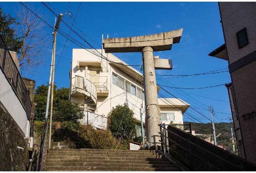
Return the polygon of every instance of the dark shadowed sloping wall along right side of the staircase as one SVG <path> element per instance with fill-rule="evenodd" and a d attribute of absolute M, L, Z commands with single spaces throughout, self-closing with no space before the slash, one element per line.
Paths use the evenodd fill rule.
<path fill-rule="evenodd" d="M 192 134 L 174 126 L 167 127 L 170 155 L 178 158 L 184 165 L 194 171 L 245 171 L 256 170 L 256 165 L 238 157 L 231 152 L 221 149 Z M 190 143 L 188 142 L 190 141 Z M 188 151 L 191 151 L 190 154 Z M 193 166 L 190 162 L 197 165 Z M 230 163 L 226 162 L 229 161 Z M 238 167 L 237 167 L 238 166 Z"/>

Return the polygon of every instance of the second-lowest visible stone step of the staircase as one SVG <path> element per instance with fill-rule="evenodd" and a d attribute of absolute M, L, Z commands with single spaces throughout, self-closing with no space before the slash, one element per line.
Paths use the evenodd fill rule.
<path fill-rule="evenodd" d="M 139 164 L 138 164 L 139 163 Z M 66 162 L 66 163 L 47 163 L 47 167 L 48 166 L 78 166 L 78 167 L 83 167 L 83 166 L 126 166 L 126 167 L 176 167 L 175 165 L 171 165 L 171 164 L 166 164 L 166 165 L 159 165 L 159 164 L 141 164 L 140 162 L 137 162 L 137 164 L 129 164 L 129 163 L 105 163 L 105 162 Z"/>

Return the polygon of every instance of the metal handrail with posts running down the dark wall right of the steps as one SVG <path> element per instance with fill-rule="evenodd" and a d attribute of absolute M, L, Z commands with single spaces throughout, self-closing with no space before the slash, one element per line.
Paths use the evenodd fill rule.
<path fill-rule="evenodd" d="M 171 125 L 172 125 L 172 124 L 171 124 Z M 180 135 L 178 135 L 178 134 L 176 134 L 176 133 L 174 133 L 174 132 L 168 130 L 168 129 L 165 127 L 165 123 L 163 123 L 163 124 L 158 124 L 158 126 L 160 126 L 161 145 L 164 146 L 164 147 L 162 147 L 162 151 L 164 151 L 164 148 L 168 147 L 169 149 L 171 149 L 172 151 L 174 151 L 176 154 L 180 155 L 180 156 L 183 157 L 185 160 L 187 160 L 189 163 L 191 163 L 193 166 L 196 166 L 196 167 L 198 167 L 198 168 L 201 169 L 201 170 L 203 170 L 203 169 L 202 169 L 201 167 L 199 167 L 198 165 L 196 165 L 196 164 L 193 162 L 193 156 L 195 156 L 195 157 L 201 159 L 202 161 L 206 162 L 208 165 L 211 165 L 211 166 L 213 166 L 214 168 L 216 168 L 216 169 L 222 171 L 222 170 L 219 169 L 218 167 L 216 167 L 216 166 L 212 165 L 211 163 L 207 162 L 204 158 L 201 158 L 199 155 L 194 154 L 194 153 L 191 151 L 191 145 L 193 145 L 193 146 L 196 146 L 196 147 L 198 147 L 198 148 L 200 148 L 200 149 L 202 149 L 202 150 L 208 152 L 209 154 L 211 154 L 211 155 L 213 155 L 213 156 L 215 156 L 215 157 L 217 157 L 217 158 L 223 160 L 224 162 L 226 162 L 226 163 L 228 163 L 228 164 L 230 164 L 230 165 L 232 165 L 232 166 L 234 166 L 234 167 L 237 167 L 239 170 L 245 171 L 245 170 L 244 170 L 243 168 L 241 168 L 240 166 L 235 165 L 235 164 L 233 164 L 233 163 L 231 163 L 231 162 L 225 160 L 224 158 L 220 157 L 219 155 L 214 154 L 213 152 L 208 151 L 207 149 L 202 148 L 201 146 L 199 146 L 199 145 L 197 145 L 197 144 L 191 142 L 190 140 L 187 140 L 187 139 L 185 139 L 184 137 L 182 137 L 182 136 L 180 136 Z M 163 130 L 162 130 L 162 129 L 163 129 Z M 179 138 L 181 138 L 182 140 L 188 142 L 188 144 L 189 144 L 189 149 L 186 149 L 186 148 L 182 147 L 182 146 L 179 145 L 177 142 L 175 142 L 175 141 L 172 140 L 171 138 L 167 137 L 167 135 L 166 135 L 166 133 L 165 133 L 166 130 L 167 130 L 167 132 L 172 133 L 172 134 L 178 136 Z M 163 140 L 163 138 L 170 140 L 171 142 L 175 143 L 177 146 L 179 146 L 179 147 L 181 147 L 182 149 L 184 149 L 184 151 L 187 151 L 187 152 L 189 153 L 189 155 L 190 155 L 190 160 L 187 159 L 187 158 L 185 158 L 184 156 L 182 156 L 179 152 L 177 152 L 177 151 L 175 151 L 174 149 L 172 149 L 169 145 L 167 145 L 167 144 L 166 144 L 166 140 Z M 165 152 L 164 154 L 166 154 L 166 152 Z M 192 171 L 193 171 L 193 166 L 192 166 Z M 204 170 L 203 170 L 203 171 L 204 171 Z"/>

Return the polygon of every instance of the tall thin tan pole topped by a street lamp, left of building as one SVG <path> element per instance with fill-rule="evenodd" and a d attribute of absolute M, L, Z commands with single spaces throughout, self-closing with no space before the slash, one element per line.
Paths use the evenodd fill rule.
<path fill-rule="evenodd" d="M 51 136 L 52 136 L 52 118 L 53 118 L 53 89 L 54 89 L 54 68 L 55 68 L 55 48 L 56 48 L 56 35 L 57 35 L 57 29 L 59 28 L 59 24 L 61 21 L 63 14 L 59 13 L 59 17 L 57 20 L 56 25 L 54 26 L 54 33 L 53 33 L 53 72 L 52 72 L 52 86 L 51 86 L 51 111 L 50 111 L 50 127 L 49 127 L 49 145 L 48 148 L 51 148 Z"/>

